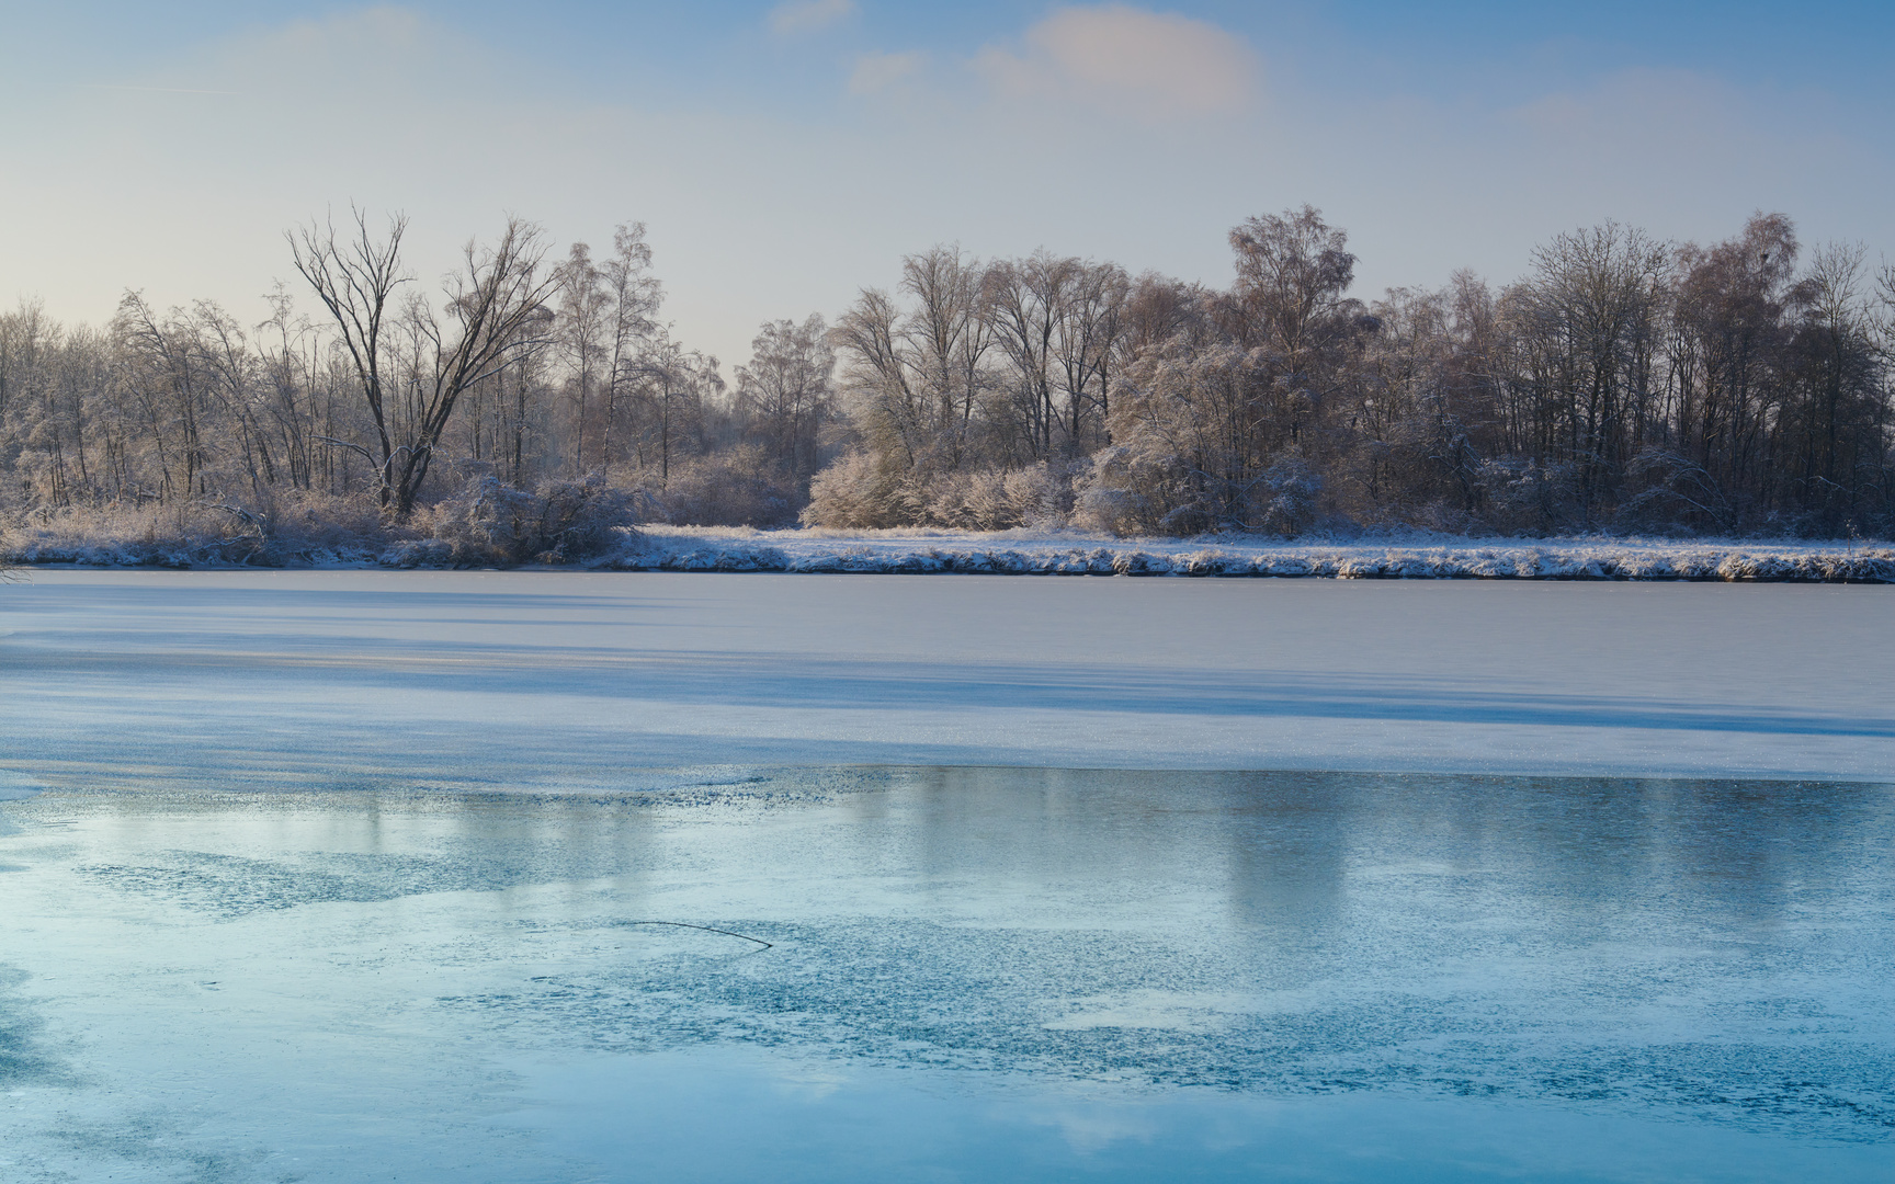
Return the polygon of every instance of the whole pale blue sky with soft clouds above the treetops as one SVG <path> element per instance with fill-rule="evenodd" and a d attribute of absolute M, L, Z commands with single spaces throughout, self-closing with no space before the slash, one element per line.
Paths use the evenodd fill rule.
<path fill-rule="evenodd" d="M 424 277 L 508 210 L 644 220 L 728 362 L 932 242 L 1224 282 L 1226 229 L 1304 201 L 1364 297 L 1605 218 L 1895 250 L 1887 4 L 15 8 L 0 299 L 72 320 L 250 311 L 282 227 L 349 201 L 404 208 Z"/>

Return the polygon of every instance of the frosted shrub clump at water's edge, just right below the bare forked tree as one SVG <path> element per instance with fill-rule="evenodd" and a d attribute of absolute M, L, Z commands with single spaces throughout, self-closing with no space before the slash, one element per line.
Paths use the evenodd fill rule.
<path fill-rule="evenodd" d="M 584 481 L 546 481 L 514 489 L 493 475 L 470 479 L 457 494 L 417 515 L 424 538 L 443 544 L 423 563 L 515 566 L 572 563 L 605 553 L 631 527 L 635 498 L 593 474 Z"/>

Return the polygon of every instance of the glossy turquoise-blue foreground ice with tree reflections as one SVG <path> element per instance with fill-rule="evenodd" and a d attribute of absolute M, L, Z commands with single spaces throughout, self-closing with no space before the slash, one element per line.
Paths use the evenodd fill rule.
<path fill-rule="evenodd" d="M 641 784 L 0 805 L 0 1178 L 1895 1161 L 1889 786 Z"/>

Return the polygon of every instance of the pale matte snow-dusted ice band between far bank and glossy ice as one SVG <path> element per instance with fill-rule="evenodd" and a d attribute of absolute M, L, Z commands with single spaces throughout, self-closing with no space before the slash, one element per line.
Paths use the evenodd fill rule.
<path fill-rule="evenodd" d="M 40 570 L 0 631 L 49 784 L 1895 771 L 1886 585 Z"/>

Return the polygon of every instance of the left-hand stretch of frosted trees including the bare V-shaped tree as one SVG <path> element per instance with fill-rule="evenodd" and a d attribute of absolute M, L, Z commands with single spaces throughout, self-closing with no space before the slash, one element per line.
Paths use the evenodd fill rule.
<path fill-rule="evenodd" d="M 279 284 L 256 326 L 136 292 L 102 330 L 30 303 L 0 314 L 0 511 L 271 521 L 366 500 L 406 521 L 470 479 L 589 477 L 648 517 L 796 521 L 830 430 L 821 318 L 764 326 L 730 388 L 659 318 L 641 224 L 605 258 L 584 242 L 550 258 L 538 227 L 510 222 L 432 299 L 404 271 L 404 233 L 360 214 L 299 227 L 303 282 Z"/>

